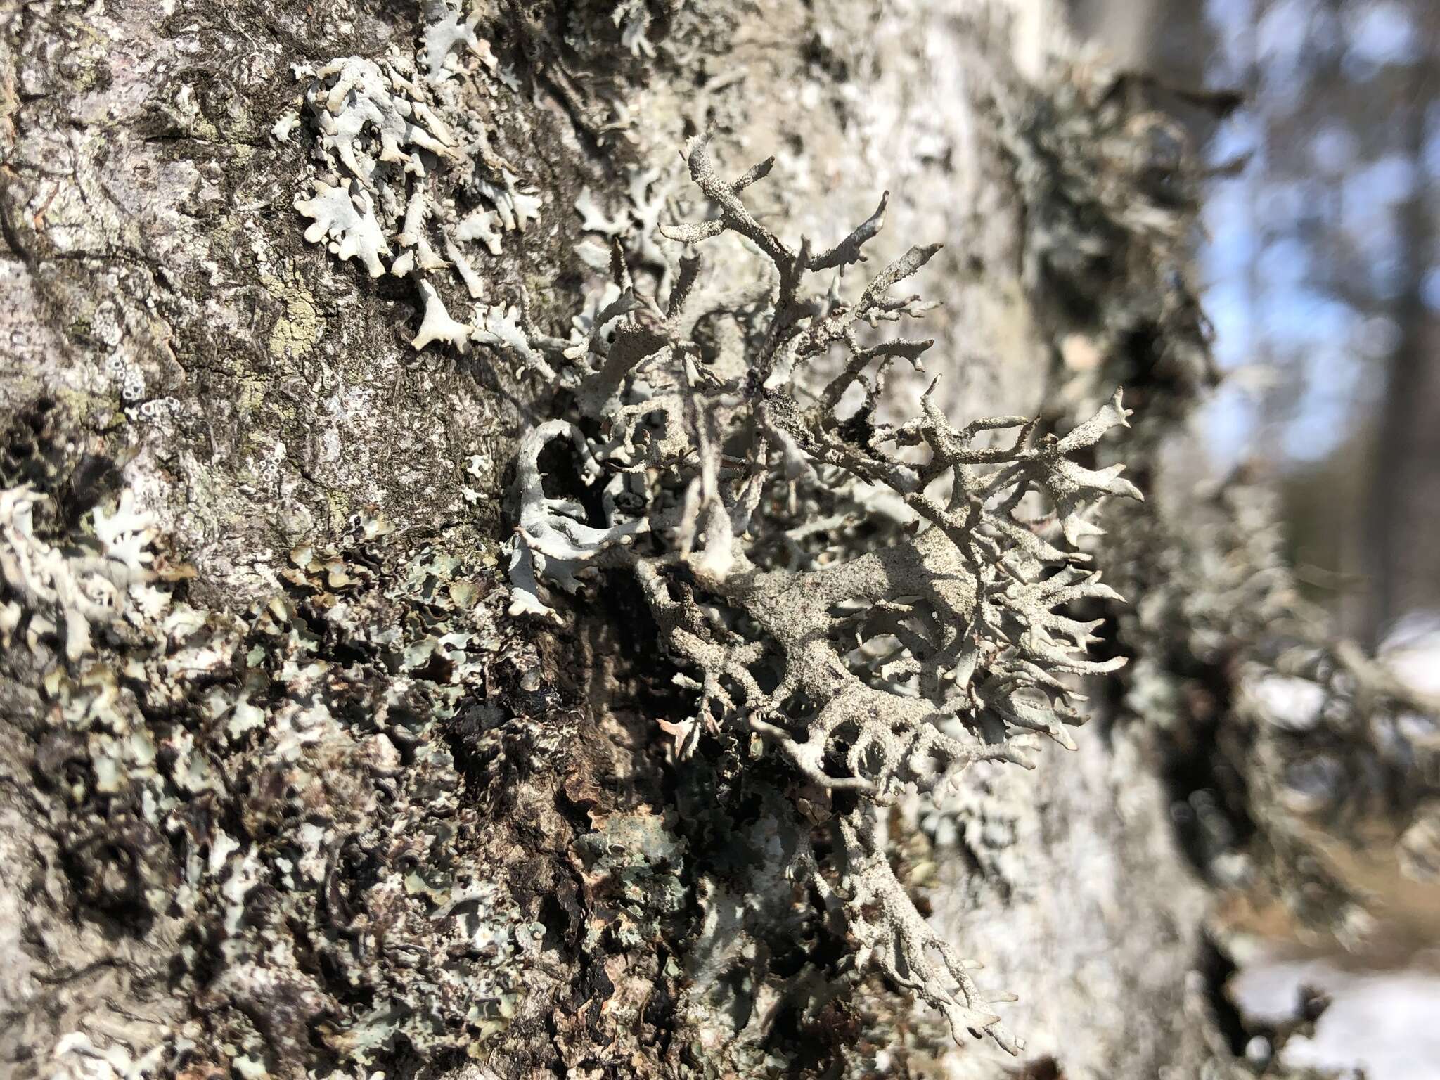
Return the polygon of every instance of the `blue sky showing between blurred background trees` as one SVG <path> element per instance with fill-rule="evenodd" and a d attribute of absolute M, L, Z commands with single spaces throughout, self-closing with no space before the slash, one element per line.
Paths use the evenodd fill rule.
<path fill-rule="evenodd" d="M 1303 105 L 1305 63 L 1326 42 L 1344 42 L 1342 72 L 1361 91 L 1385 65 L 1413 62 L 1423 46 L 1407 4 L 1352 0 L 1341 17 L 1318 0 L 1277 0 L 1256 22 L 1256 0 L 1208 0 L 1220 40 L 1212 85 L 1244 86 L 1260 71 L 1256 108 L 1225 121 L 1212 141 L 1215 164 L 1250 156 L 1244 173 L 1218 180 L 1207 196 L 1201 275 L 1207 311 L 1217 331 L 1217 359 L 1230 377 L 1201 418 L 1218 471 L 1253 455 L 1280 464 L 1331 454 L 1378 402 L 1394 323 L 1365 317 L 1318 284 L 1323 266 L 1302 240 L 1313 235 L 1318 184 L 1339 200 L 1339 220 L 1361 255 L 1362 282 L 1378 297 L 1397 287 L 1395 207 L 1413 192 L 1410 161 L 1361 157 L 1359 140 L 1341 124 L 1309 137 L 1309 170 L 1299 181 L 1266 173 L 1260 115 Z M 1440 109 L 1428 118 L 1424 168 L 1440 173 Z M 1315 181 L 1315 183 L 1308 183 Z M 1309 228 L 1308 228 L 1308 223 Z M 1325 220 L 1326 228 L 1331 222 Z M 1261 236 L 1261 230 L 1269 238 Z M 1428 302 L 1440 308 L 1440 268 L 1427 276 Z M 1287 402 L 1276 431 L 1263 428 L 1260 395 L 1279 390 Z"/>

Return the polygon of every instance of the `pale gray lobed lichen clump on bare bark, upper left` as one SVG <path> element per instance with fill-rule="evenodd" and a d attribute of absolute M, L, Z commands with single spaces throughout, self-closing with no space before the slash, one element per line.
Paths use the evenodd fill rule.
<path fill-rule="evenodd" d="M 482 307 L 465 318 L 451 314 L 445 271 L 482 304 L 475 259 L 498 255 L 504 235 L 523 232 L 541 210 L 540 196 L 491 145 L 497 60 L 477 23 L 478 14 L 462 17 L 441 3 L 410 55 L 392 49 L 380 60 L 346 56 L 297 71 L 321 166 L 312 194 L 295 200 L 312 220 L 305 239 L 359 259 L 372 278 L 412 278 L 423 304 L 418 350 L 445 343 L 467 351 L 494 334 Z M 276 138 L 285 134 L 276 124 Z M 521 359 L 539 357 L 527 350 Z M 552 377 L 543 361 L 530 366 Z"/>

